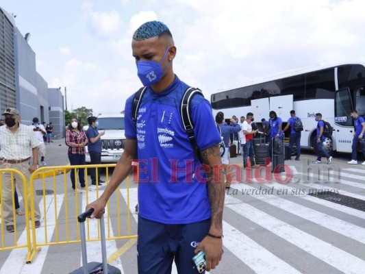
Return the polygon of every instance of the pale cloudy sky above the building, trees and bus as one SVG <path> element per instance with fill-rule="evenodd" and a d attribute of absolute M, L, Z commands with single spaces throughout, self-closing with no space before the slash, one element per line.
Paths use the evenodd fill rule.
<path fill-rule="evenodd" d="M 364 0 L 0 0 L 68 110 L 118 113 L 140 88 L 131 37 L 142 23 L 170 28 L 175 73 L 214 92 L 319 62 L 365 56 Z"/>

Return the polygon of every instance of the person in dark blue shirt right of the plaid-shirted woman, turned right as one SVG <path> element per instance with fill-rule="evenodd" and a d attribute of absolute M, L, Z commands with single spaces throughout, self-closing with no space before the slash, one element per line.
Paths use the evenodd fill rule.
<path fill-rule="evenodd" d="M 100 132 L 97 129 L 99 125 L 97 121 L 97 117 L 90 116 L 88 117 L 88 131 L 86 132 L 86 136 L 88 137 L 88 153 L 90 154 L 90 164 L 101 164 L 101 136 L 105 134 L 105 132 Z M 99 170 L 96 172 L 96 169 L 89 169 L 91 184 L 96 186 L 101 186 L 101 184 L 105 183 L 105 181 L 100 179 Z M 97 178 L 96 178 L 97 173 Z"/>

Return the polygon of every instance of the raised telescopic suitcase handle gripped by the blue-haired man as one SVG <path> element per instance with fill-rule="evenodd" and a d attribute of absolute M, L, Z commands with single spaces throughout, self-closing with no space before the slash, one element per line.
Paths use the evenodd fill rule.
<path fill-rule="evenodd" d="M 82 255 L 82 271 L 88 274 L 88 253 L 86 251 L 86 231 L 85 221 L 88 216 L 94 212 L 94 208 L 90 208 L 77 216 L 77 221 L 80 224 L 80 238 L 81 238 L 81 255 Z M 103 259 L 103 273 L 108 274 L 108 263 L 106 258 L 106 243 L 105 243 L 105 225 L 104 214 L 100 218 L 100 238 L 101 238 L 101 258 Z"/>

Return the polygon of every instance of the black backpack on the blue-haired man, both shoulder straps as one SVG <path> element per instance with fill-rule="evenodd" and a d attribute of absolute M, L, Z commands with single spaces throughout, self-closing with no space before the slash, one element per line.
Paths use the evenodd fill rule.
<path fill-rule="evenodd" d="M 147 90 L 147 86 L 140 88 L 136 92 L 136 95 L 134 95 L 134 99 L 132 101 L 131 116 L 132 116 L 135 126 L 137 125 L 137 116 L 138 116 L 138 110 L 140 108 L 140 103 L 142 101 L 143 95 L 146 92 L 146 90 Z M 201 90 L 199 90 L 199 88 L 188 87 L 185 90 L 184 95 L 181 98 L 180 115 L 181 115 L 181 122 L 184 126 L 184 129 L 186 130 L 186 133 L 188 134 L 188 138 L 194 149 L 194 155 L 197 158 L 199 158 L 199 160 L 201 160 L 199 148 L 197 147 L 197 142 L 195 142 L 195 137 L 194 137 L 194 124 L 192 123 L 192 119 L 190 116 L 190 112 L 191 112 L 190 102 L 192 100 L 192 97 L 194 97 L 195 95 L 198 95 L 198 94 L 204 97 L 203 93 L 201 92 Z"/>

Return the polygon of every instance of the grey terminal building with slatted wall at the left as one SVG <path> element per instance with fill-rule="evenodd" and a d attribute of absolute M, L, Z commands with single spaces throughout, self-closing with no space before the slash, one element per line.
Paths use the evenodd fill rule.
<path fill-rule="evenodd" d="M 64 97 L 36 71 L 36 53 L 28 39 L 29 34 L 23 36 L 14 18 L 0 7 L 0 111 L 17 108 L 25 125 L 34 117 L 52 122 L 53 136 L 64 138 Z"/>

